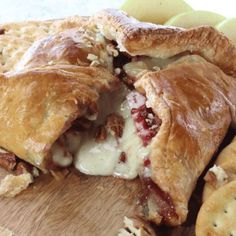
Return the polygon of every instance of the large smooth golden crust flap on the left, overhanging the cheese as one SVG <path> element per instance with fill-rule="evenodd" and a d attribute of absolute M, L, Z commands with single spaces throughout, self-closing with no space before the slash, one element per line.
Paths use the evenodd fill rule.
<path fill-rule="evenodd" d="M 45 168 L 52 144 L 75 119 L 94 111 L 100 92 L 116 86 L 115 77 L 95 67 L 65 65 L 1 75 L 0 146 Z"/>

